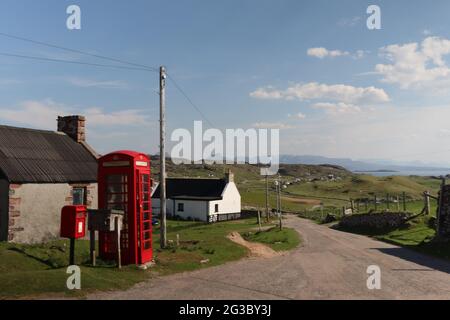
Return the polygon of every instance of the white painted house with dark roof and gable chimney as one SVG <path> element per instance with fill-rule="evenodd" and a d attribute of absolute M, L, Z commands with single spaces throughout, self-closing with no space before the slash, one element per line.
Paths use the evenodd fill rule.
<path fill-rule="evenodd" d="M 167 215 L 205 222 L 238 219 L 241 195 L 230 171 L 224 179 L 168 178 Z M 159 186 L 152 196 L 153 215 L 160 214 Z"/>

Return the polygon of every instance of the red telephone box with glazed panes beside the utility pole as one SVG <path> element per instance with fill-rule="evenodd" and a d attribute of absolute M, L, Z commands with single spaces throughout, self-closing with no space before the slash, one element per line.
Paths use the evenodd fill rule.
<path fill-rule="evenodd" d="M 123 264 L 145 264 L 153 257 L 150 158 L 134 151 L 117 151 L 99 159 L 99 209 L 125 213 L 120 239 Z M 99 254 L 116 257 L 114 232 L 99 233 Z"/>

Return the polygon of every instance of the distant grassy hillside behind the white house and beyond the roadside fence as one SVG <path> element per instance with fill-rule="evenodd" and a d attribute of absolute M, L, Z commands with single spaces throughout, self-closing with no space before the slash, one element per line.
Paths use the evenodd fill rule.
<path fill-rule="evenodd" d="M 244 206 L 265 207 L 265 177 L 255 165 L 174 165 L 167 161 L 169 177 L 222 178 L 231 169 L 242 195 Z M 159 161 L 152 162 L 153 178 L 159 179 Z M 300 211 L 323 203 L 342 207 L 350 199 L 384 199 L 387 194 L 395 199 L 403 192 L 409 201 L 421 200 L 423 192 L 436 194 L 440 181 L 426 177 L 374 177 L 356 175 L 333 165 L 280 165 L 283 182 L 283 206 Z M 275 207 L 275 184 L 277 177 L 269 177 L 270 206 Z"/>

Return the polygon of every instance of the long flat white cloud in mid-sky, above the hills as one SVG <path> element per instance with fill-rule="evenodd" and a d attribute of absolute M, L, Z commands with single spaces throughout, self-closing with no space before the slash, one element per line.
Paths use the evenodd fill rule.
<path fill-rule="evenodd" d="M 389 101 L 388 94 L 375 87 L 353 87 L 344 84 L 327 85 L 317 82 L 295 84 L 285 90 L 259 88 L 250 93 L 256 99 L 325 100 L 348 104 L 377 104 Z"/>

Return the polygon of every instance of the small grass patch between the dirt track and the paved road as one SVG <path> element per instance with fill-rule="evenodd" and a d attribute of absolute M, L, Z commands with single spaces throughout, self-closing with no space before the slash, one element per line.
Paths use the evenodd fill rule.
<path fill-rule="evenodd" d="M 261 242 L 275 251 L 287 251 L 298 247 L 300 237 L 294 229 L 273 227 L 261 232 L 245 232 L 242 234 L 245 240 Z"/>

